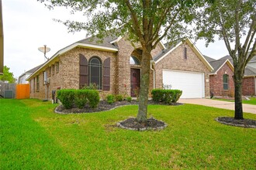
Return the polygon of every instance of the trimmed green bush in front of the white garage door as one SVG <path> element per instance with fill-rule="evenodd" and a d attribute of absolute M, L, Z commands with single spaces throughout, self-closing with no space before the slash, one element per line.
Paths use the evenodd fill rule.
<path fill-rule="evenodd" d="M 156 102 L 164 102 L 165 104 L 176 103 L 182 96 L 182 90 L 162 90 L 154 89 L 151 92 L 152 99 Z"/>

